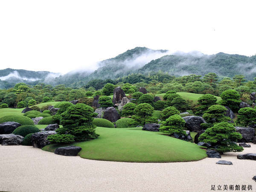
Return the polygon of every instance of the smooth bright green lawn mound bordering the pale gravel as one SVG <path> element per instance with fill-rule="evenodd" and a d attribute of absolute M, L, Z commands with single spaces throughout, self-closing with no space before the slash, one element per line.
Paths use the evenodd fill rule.
<path fill-rule="evenodd" d="M 141 128 L 96 128 L 100 136 L 95 140 L 74 143 L 80 146 L 80 157 L 92 160 L 122 162 L 185 162 L 207 157 L 198 145 L 159 132 L 142 131 Z M 47 145 L 45 151 L 53 152 L 61 145 Z M 63 145 L 62 145 L 63 146 Z"/>

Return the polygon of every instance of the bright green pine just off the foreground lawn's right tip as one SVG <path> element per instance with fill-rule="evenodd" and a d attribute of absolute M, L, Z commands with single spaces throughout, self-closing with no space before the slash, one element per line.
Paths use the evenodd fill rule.
<path fill-rule="evenodd" d="M 220 122 L 212 128 L 208 128 L 198 138 L 199 141 L 210 143 L 217 151 L 224 152 L 240 152 L 243 147 L 238 146 L 235 142 L 240 140 L 242 135 L 236 132 L 234 126 L 228 122 Z"/>

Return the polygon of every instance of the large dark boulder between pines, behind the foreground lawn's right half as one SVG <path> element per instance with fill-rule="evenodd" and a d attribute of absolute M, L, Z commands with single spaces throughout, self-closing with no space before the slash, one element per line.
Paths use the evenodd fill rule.
<path fill-rule="evenodd" d="M 189 131 L 198 132 L 203 128 L 201 127 L 201 123 L 206 123 L 206 121 L 201 116 L 184 116 L 182 117 L 186 121 L 185 127 Z"/>

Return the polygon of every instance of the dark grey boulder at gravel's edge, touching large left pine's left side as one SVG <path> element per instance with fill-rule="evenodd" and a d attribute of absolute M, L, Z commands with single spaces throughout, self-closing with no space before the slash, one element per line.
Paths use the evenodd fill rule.
<path fill-rule="evenodd" d="M 55 131 L 41 131 L 38 133 L 34 133 L 31 136 L 31 143 L 33 147 L 43 148 L 44 146 L 51 144 L 51 142 L 47 140 L 48 135 L 54 134 L 56 134 Z"/>

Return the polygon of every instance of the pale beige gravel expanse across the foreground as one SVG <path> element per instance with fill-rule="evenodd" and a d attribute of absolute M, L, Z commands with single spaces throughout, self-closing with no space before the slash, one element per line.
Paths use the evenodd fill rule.
<path fill-rule="evenodd" d="M 252 185 L 256 161 L 237 154 L 256 153 L 256 145 L 221 159 L 185 163 L 122 163 L 56 155 L 30 146 L 0 145 L 0 191 L 190 191 L 211 186 Z M 215 164 L 229 160 L 232 166 Z M 234 189 L 235 191 L 235 189 Z"/>

